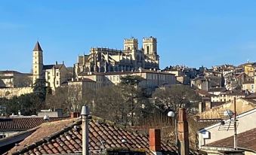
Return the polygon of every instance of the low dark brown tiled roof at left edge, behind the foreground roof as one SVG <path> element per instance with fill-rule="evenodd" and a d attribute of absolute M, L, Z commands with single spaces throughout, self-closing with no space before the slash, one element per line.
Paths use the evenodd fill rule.
<path fill-rule="evenodd" d="M 50 122 L 63 120 L 62 118 L 50 118 Z M 43 117 L 0 117 L 0 131 L 23 131 L 40 126 L 47 121 Z"/>

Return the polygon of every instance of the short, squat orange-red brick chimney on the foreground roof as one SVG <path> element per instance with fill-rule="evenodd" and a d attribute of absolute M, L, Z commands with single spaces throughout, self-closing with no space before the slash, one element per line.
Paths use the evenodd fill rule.
<path fill-rule="evenodd" d="M 161 151 L 160 129 L 150 129 L 150 150 L 155 153 Z"/>

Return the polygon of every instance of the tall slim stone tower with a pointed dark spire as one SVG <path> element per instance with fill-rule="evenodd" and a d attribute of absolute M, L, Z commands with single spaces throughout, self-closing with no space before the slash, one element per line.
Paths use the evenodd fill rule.
<path fill-rule="evenodd" d="M 43 54 L 42 48 L 39 44 L 39 41 L 36 42 L 34 50 L 33 50 L 33 57 L 32 57 L 32 71 L 33 71 L 33 84 L 35 84 L 36 79 L 43 78 Z"/>

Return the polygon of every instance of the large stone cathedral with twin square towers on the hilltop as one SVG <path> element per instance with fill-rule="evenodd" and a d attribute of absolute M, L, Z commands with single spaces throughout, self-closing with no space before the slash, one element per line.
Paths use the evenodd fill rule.
<path fill-rule="evenodd" d="M 124 49 L 93 47 L 88 55 L 79 56 L 74 65 L 76 76 L 82 72 L 137 71 L 159 69 L 156 38 L 143 38 L 142 48 L 138 48 L 136 38 L 124 40 Z"/>

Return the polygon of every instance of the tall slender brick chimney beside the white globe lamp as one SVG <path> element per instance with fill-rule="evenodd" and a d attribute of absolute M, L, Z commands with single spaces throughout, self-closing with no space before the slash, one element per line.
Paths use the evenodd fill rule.
<path fill-rule="evenodd" d="M 189 128 L 187 123 L 187 114 L 185 108 L 179 109 L 179 116 L 177 122 L 178 129 L 178 148 L 180 155 L 189 155 Z"/>

